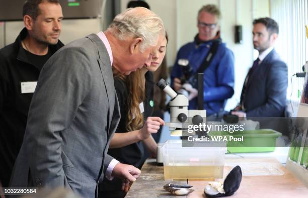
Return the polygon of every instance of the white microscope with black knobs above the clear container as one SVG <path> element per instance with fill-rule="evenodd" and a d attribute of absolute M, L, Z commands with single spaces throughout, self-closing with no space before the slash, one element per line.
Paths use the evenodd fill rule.
<path fill-rule="evenodd" d="M 188 110 L 188 98 L 175 92 L 168 83 L 161 79 L 157 85 L 170 97 L 170 123 L 166 123 L 171 136 L 190 136 L 188 125 L 206 124 L 206 110 L 203 108 L 203 73 L 198 73 L 198 110 Z"/>

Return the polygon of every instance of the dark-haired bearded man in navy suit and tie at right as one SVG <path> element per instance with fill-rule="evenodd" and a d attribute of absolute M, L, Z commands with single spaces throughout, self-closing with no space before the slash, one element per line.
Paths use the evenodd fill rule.
<path fill-rule="evenodd" d="M 288 71 L 274 49 L 278 24 L 271 18 L 260 18 L 254 20 L 253 25 L 253 43 L 259 57 L 246 76 L 241 103 L 232 114 L 239 117 L 282 117 Z"/>

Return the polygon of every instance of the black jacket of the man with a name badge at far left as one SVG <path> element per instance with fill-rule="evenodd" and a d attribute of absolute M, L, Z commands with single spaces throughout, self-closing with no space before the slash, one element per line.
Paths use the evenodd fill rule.
<path fill-rule="evenodd" d="M 21 41 L 27 36 L 24 28 L 16 41 L 0 49 L 0 180 L 7 187 L 12 169 L 23 142 L 28 110 L 33 93 L 22 93 L 22 82 L 38 80 L 43 65 L 28 59 Z M 54 54 L 63 44 L 50 45 Z"/>

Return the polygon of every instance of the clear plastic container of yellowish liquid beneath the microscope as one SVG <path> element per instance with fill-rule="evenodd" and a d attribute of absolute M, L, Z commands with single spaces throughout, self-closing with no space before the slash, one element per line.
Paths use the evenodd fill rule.
<path fill-rule="evenodd" d="M 182 147 L 182 140 L 168 140 L 163 146 L 165 179 L 222 178 L 225 143 L 200 144 Z"/>

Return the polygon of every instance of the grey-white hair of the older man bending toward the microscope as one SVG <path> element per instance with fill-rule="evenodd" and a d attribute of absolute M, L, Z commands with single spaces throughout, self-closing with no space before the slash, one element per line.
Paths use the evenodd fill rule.
<path fill-rule="evenodd" d="M 130 8 L 117 15 L 108 30 L 119 40 L 129 37 L 142 38 L 140 51 L 157 45 L 160 35 L 165 37 L 165 27 L 162 19 L 146 8 Z"/>

